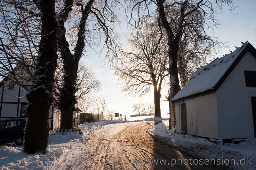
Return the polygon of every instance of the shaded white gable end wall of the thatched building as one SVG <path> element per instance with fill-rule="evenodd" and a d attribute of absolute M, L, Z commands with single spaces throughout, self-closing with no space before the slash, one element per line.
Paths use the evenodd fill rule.
<path fill-rule="evenodd" d="M 246 87 L 244 70 L 256 71 L 256 57 L 247 52 L 217 90 L 219 137 L 254 137 L 251 96 L 256 88 Z"/>

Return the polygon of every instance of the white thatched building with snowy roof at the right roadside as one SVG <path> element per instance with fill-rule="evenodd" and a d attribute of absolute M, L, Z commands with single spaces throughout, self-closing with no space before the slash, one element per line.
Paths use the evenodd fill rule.
<path fill-rule="evenodd" d="M 256 49 L 246 41 L 196 70 L 172 102 L 177 133 L 226 140 L 256 137 Z"/>

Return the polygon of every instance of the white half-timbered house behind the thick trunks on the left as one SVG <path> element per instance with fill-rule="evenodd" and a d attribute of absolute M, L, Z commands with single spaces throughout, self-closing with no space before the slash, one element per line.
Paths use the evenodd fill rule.
<path fill-rule="evenodd" d="M 28 117 L 26 112 L 27 91 L 22 87 L 9 85 L 9 81 L 4 78 L 0 83 L 0 120 L 12 118 Z M 49 129 L 56 129 L 60 126 L 60 114 L 56 108 L 50 108 L 49 112 Z"/>

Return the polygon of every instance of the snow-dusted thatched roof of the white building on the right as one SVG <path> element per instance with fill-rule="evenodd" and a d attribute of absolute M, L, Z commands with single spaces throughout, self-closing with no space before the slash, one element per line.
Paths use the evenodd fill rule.
<path fill-rule="evenodd" d="M 172 98 L 172 101 L 192 97 L 201 93 L 213 92 L 218 89 L 248 50 L 255 52 L 256 49 L 246 41 L 234 52 L 217 58 L 196 70 L 190 76 L 188 83 Z"/>

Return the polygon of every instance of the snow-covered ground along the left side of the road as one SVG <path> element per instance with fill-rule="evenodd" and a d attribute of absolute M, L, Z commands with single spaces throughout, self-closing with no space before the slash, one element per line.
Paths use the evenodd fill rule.
<path fill-rule="evenodd" d="M 140 119 L 138 117 L 137 119 Z M 157 121 L 162 118 L 146 118 L 144 120 L 134 120 L 126 122 L 139 121 Z M 123 123 L 122 120 L 102 121 L 81 124 L 82 135 L 76 132 L 50 132 L 48 140 L 48 149 L 45 155 L 25 154 L 22 152 L 22 146 L 4 146 L 0 148 L 0 169 L 2 170 L 26 170 L 26 169 L 62 169 L 72 160 L 76 160 L 81 154 L 82 147 L 86 143 L 90 134 L 102 126 L 115 123 Z"/>

